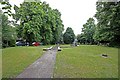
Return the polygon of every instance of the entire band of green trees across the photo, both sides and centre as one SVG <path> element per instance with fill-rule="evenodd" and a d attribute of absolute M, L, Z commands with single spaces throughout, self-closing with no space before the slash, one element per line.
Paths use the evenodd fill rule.
<path fill-rule="evenodd" d="M 0 10 L 2 19 L 0 28 L 3 34 L 2 42 L 6 46 L 10 46 L 9 44 L 13 40 L 15 43 L 17 38 L 22 38 L 31 45 L 32 42 L 54 44 L 63 41 L 69 44 L 75 39 L 74 31 L 70 27 L 63 34 L 64 25 L 61 13 L 57 9 L 52 9 L 46 2 L 34 0 L 34 2 L 23 2 L 20 7 L 14 5 L 14 14 L 11 12 L 12 6 L 8 1 L 2 1 L 1 4 L 3 7 L 2 11 Z M 83 25 L 82 33 L 77 35 L 78 42 L 118 44 L 120 41 L 120 1 L 97 2 L 96 10 L 94 17 L 97 19 L 97 24 L 95 24 L 94 18 L 89 18 Z M 8 16 L 12 16 L 15 22 L 11 23 Z"/>

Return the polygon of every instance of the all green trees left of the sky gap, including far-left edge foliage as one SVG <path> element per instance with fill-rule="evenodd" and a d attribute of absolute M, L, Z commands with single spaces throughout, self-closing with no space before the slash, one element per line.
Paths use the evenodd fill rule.
<path fill-rule="evenodd" d="M 23 2 L 20 7 L 14 5 L 15 13 L 11 12 L 8 1 L 2 1 L 1 4 L 4 5 L 0 14 L 3 47 L 11 46 L 10 43 L 13 41 L 12 46 L 15 46 L 19 38 L 29 42 L 30 45 L 35 41 L 45 45 L 63 41 L 64 25 L 61 13 L 57 9 L 52 9 L 46 2 Z M 9 21 L 8 16 L 12 16 L 15 21 L 13 23 Z"/>

